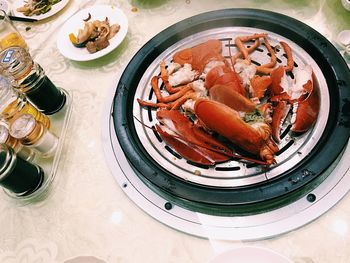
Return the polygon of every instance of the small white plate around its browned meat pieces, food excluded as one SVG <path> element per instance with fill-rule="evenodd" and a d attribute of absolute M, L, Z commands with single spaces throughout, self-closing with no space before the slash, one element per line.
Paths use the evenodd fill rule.
<path fill-rule="evenodd" d="M 119 32 L 109 40 L 109 46 L 105 49 L 90 54 L 86 48 L 77 48 L 69 40 L 69 34 L 78 34 L 79 29 L 84 28 L 84 20 L 91 14 L 91 21 L 104 20 L 108 17 L 110 25 L 118 23 Z M 57 47 L 63 56 L 75 61 L 89 61 L 100 58 L 113 51 L 125 38 L 128 32 L 128 19 L 122 10 L 109 5 L 95 5 L 83 9 L 72 16 L 61 28 L 57 37 Z"/>

